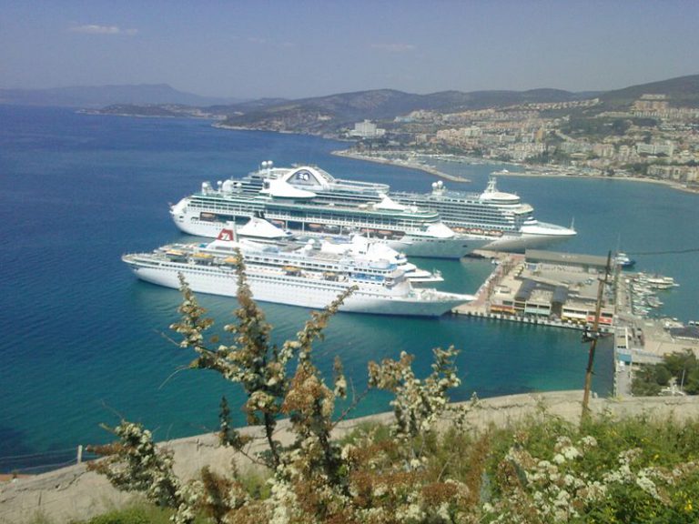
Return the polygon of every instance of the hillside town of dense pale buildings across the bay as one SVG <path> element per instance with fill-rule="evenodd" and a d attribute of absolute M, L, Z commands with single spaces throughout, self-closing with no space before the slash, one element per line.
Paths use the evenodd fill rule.
<path fill-rule="evenodd" d="M 451 154 L 513 162 L 540 173 L 642 176 L 699 187 L 699 109 L 647 94 L 600 110 L 597 98 L 442 114 L 419 110 L 360 122 L 353 152 L 407 159 Z M 596 110 L 595 110 L 596 109 Z M 383 128 L 385 126 L 385 128 Z"/>

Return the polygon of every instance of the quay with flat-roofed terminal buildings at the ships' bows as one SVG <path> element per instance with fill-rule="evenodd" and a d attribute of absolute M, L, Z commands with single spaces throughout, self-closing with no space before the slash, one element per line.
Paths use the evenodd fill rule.
<path fill-rule="evenodd" d="M 456 307 L 454 314 L 495 321 L 520 322 L 552 328 L 590 330 L 596 316 L 597 293 L 607 257 L 527 250 L 524 255 L 481 252 L 491 258 L 493 271 L 475 299 Z M 664 278 L 664 280 L 663 280 Z M 665 355 L 689 350 L 699 357 L 699 327 L 684 327 L 669 318 L 650 317 L 661 303 L 639 282 L 673 287 L 669 277 L 648 279 L 613 265 L 604 288 L 599 333 L 613 338 L 614 396 L 631 396 L 633 373 L 644 364 L 657 364 Z M 653 284 L 651 284 L 652 286 Z M 645 302 L 644 302 L 645 303 Z"/>

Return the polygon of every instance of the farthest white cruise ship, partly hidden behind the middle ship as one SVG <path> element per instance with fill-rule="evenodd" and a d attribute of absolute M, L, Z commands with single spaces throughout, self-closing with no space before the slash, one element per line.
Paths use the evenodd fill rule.
<path fill-rule="evenodd" d="M 536 220 L 533 208 L 512 193 L 498 190 L 496 174 L 481 193 L 451 191 L 438 181 L 430 193 L 390 192 L 379 183 L 343 180 L 317 166 L 277 167 L 262 162 L 257 171 L 241 179 L 229 179 L 217 188 L 203 187 L 202 194 L 213 202 L 214 196 L 256 195 L 265 186 L 280 180 L 300 191 L 312 193 L 317 204 L 358 206 L 380 204 L 386 198 L 395 206 L 419 207 L 440 215 L 442 222 L 458 235 L 478 239 L 479 248 L 523 252 L 525 249 L 550 247 L 575 236 L 572 227 L 562 227 Z"/>

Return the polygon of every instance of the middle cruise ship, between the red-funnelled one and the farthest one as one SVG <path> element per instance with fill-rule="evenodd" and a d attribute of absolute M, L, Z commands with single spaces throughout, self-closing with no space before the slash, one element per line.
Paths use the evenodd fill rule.
<path fill-rule="evenodd" d="M 296 184 L 307 173 L 319 173 L 316 168 L 292 171 L 290 181 L 288 176 L 254 181 L 248 177 L 227 180 L 216 188 L 204 182 L 201 191 L 171 206 L 170 215 L 182 231 L 199 237 L 216 237 L 226 223 L 242 225 L 258 216 L 293 234 L 359 232 L 412 257 L 460 258 L 491 241 L 456 234 L 438 212 L 400 204 L 387 195 L 365 199 L 356 194 L 346 199 L 321 196 Z M 265 173 L 279 174 L 279 169 L 265 163 Z"/>

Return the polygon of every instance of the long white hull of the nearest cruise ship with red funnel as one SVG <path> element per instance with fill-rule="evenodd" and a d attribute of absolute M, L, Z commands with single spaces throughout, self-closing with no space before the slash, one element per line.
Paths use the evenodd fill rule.
<path fill-rule="evenodd" d="M 124 257 L 134 274 L 151 284 L 179 288 L 178 275 L 182 274 L 189 287 L 197 293 L 236 297 L 238 275 L 233 267 L 199 268 L 187 264 L 159 265 L 136 262 Z M 253 297 L 261 302 L 322 309 L 329 306 L 352 282 L 309 281 L 303 277 L 284 277 L 249 273 L 248 286 Z M 436 292 L 432 289 L 414 289 L 408 295 L 392 295 L 377 284 L 374 289 L 360 289 L 345 299 L 340 311 L 378 315 L 439 317 L 471 297 Z"/>

